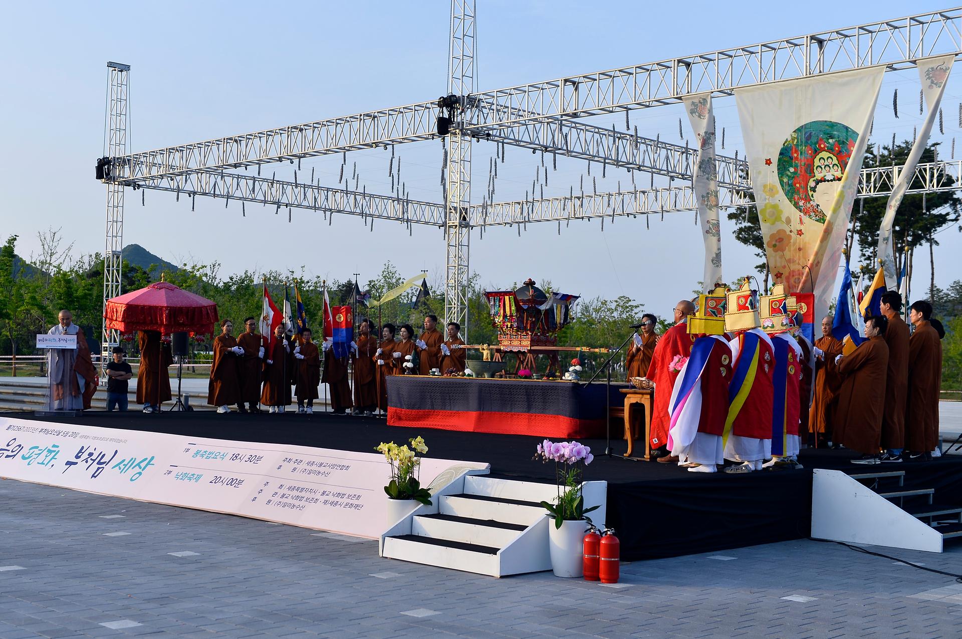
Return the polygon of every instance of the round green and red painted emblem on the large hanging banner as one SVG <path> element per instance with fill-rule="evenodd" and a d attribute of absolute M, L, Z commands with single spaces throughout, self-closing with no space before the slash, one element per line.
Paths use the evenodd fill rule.
<path fill-rule="evenodd" d="M 798 127 L 778 152 L 778 182 L 805 217 L 825 221 L 858 134 L 840 122 L 814 120 Z M 828 184 L 823 188 L 824 184 Z"/>

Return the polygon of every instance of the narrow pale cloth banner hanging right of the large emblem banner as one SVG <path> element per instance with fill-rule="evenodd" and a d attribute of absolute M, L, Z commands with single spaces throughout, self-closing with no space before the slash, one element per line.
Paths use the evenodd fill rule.
<path fill-rule="evenodd" d="M 928 112 L 925 113 L 922 129 L 912 144 L 912 151 L 908 154 L 908 160 L 905 160 L 905 165 L 901 168 L 896 184 L 892 188 L 892 194 L 889 195 L 889 201 L 885 205 L 885 217 L 882 218 L 881 227 L 878 229 L 877 256 L 881 260 L 882 269 L 885 272 L 885 287 L 889 290 L 899 288 L 895 235 L 892 233 L 892 227 L 896 221 L 896 212 L 899 210 L 902 198 L 905 197 L 908 185 L 912 182 L 912 176 L 915 175 L 915 168 L 919 165 L 922 152 L 928 144 L 928 136 L 932 133 L 932 126 L 939 114 L 939 104 L 942 102 L 942 95 L 949 83 L 949 72 L 952 70 L 952 62 L 954 61 L 955 56 L 951 55 L 926 58 L 916 62 L 919 67 L 919 80 L 922 82 L 922 94 L 925 97 Z"/>

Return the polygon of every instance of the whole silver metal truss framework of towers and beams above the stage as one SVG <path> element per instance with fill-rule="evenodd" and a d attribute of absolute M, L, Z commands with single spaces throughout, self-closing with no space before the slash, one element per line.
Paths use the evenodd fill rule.
<path fill-rule="evenodd" d="M 110 147 L 113 170 L 105 179 L 108 255 L 114 255 L 112 251 L 120 248 L 119 244 L 114 246 L 112 237 L 119 242 L 122 236 L 124 186 L 176 191 L 192 197 L 223 197 L 278 209 L 323 210 L 436 225 L 443 228 L 446 246 L 444 318 L 460 321 L 467 332 L 465 295 L 471 228 L 540 221 L 560 223 L 570 219 L 696 208 L 689 185 L 671 184 L 673 180 L 691 180 L 695 149 L 640 136 L 637 129 L 620 132 L 614 127 L 609 130 L 584 124 L 575 118 L 677 103 L 701 92 L 730 95 L 742 86 L 779 83 L 868 66 L 883 65 L 887 70 L 897 70 L 929 56 L 962 55 L 962 8 L 952 8 L 476 93 L 474 16 L 474 0 L 452 0 L 447 97 L 453 97 L 453 106 L 449 111 L 452 117 L 444 159 L 443 204 L 231 172 L 283 160 L 436 138 L 437 117 L 442 112 L 437 100 L 128 154 L 124 147 L 129 67 L 119 65 L 124 66 L 123 122 L 121 126 L 119 121 L 114 121 L 114 107 L 119 115 L 121 103 L 114 105 L 112 98 L 108 132 L 113 131 L 123 143 Z M 109 89 L 112 96 L 119 90 L 114 88 L 113 78 L 112 75 Z M 633 187 L 617 193 L 572 193 L 567 198 L 539 200 L 534 199 L 532 193 L 532 199 L 526 201 L 489 203 L 486 198 L 483 204 L 472 205 L 472 139 L 597 161 L 629 172 L 645 171 L 652 176 L 669 178 L 670 185 Z M 745 194 L 749 190 L 745 162 L 723 156 L 719 156 L 718 162 L 722 207 L 745 206 Z M 959 188 L 960 166 L 962 162 L 958 161 L 919 166 L 913 182 L 916 186 L 910 192 Z M 890 192 L 899 169 L 864 169 L 859 196 Z M 108 270 L 111 269 L 105 269 L 105 299 L 119 292 L 118 255 L 115 280 L 114 271 L 108 274 Z M 110 341 L 105 332 L 105 344 Z"/>

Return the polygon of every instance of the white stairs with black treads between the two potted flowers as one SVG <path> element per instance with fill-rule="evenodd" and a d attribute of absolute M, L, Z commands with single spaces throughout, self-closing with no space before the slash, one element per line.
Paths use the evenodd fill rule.
<path fill-rule="evenodd" d="M 582 494 L 601 504 L 589 517 L 603 524 L 607 482 L 586 481 Z M 540 503 L 556 499 L 554 484 L 465 475 L 385 532 L 380 554 L 491 577 L 551 570 L 554 522 Z"/>

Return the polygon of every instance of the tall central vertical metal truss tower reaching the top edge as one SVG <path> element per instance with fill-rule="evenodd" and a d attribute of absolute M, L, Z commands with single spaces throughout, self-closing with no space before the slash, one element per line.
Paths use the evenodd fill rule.
<path fill-rule="evenodd" d="M 444 323 L 461 324 L 468 339 L 468 244 L 471 205 L 471 136 L 468 126 L 473 113 L 474 83 L 474 0 L 451 0 L 450 74 L 448 95 L 458 98 L 458 118 L 451 123 L 445 183 L 444 237 L 446 262 L 444 278 Z"/>

